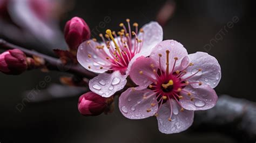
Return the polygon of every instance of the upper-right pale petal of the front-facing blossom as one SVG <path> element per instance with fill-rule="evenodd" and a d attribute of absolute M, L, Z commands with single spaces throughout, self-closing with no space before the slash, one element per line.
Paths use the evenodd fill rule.
<path fill-rule="evenodd" d="M 201 86 L 210 85 L 212 88 L 219 84 L 221 70 L 217 59 L 205 52 L 192 53 L 188 55 L 188 57 L 190 58 L 190 62 L 194 65 L 187 68 L 187 74 L 185 74 L 183 78 L 186 78 L 195 73 L 198 69 L 201 69 L 202 71 L 188 79 L 188 81 L 201 81 L 201 83 L 203 83 Z M 192 84 L 192 86 L 198 87 L 199 85 Z"/>

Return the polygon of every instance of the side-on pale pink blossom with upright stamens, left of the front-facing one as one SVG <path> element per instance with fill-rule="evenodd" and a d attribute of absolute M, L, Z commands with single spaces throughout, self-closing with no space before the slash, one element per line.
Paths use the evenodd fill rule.
<path fill-rule="evenodd" d="M 149 56 L 152 48 L 163 40 L 163 30 L 157 22 L 144 25 L 138 33 L 138 24 L 134 23 L 135 30 L 131 31 L 130 20 L 126 21 L 128 29 L 121 23 L 121 31 L 106 30 L 106 39 L 99 35 L 102 43 L 96 39 L 88 40 L 78 48 L 78 62 L 85 69 L 100 73 L 90 80 L 89 87 L 102 97 L 110 97 L 121 90 L 134 60 L 139 56 Z"/>

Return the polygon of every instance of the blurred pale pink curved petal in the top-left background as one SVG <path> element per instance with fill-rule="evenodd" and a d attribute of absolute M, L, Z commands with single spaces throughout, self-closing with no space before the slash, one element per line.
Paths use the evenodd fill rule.
<path fill-rule="evenodd" d="M 45 1 L 44 3 L 49 2 Z M 56 31 L 55 23 L 39 17 L 36 11 L 31 8 L 29 0 L 10 1 L 8 6 L 12 21 L 22 28 L 28 29 L 37 38 L 54 41 L 59 37 L 60 31 Z"/>

